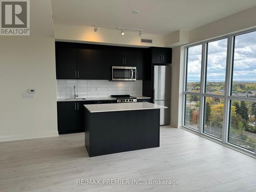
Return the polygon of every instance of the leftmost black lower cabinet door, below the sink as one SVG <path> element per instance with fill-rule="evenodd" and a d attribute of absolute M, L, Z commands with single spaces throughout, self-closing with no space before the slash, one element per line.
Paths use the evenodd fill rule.
<path fill-rule="evenodd" d="M 59 134 L 75 133 L 76 128 L 76 102 L 57 102 L 57 119 Z"/>

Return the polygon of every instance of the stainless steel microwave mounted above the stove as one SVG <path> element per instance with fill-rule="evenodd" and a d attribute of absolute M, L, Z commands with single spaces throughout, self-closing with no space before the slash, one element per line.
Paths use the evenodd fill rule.
<path fill-rule="evenodd" d="M 136 81 L 136 67 L 112 66 L 113 81 Z"/>

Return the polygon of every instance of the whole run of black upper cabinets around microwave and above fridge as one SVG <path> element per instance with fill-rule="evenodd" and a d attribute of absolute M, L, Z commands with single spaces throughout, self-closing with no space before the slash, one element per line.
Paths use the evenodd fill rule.
<path fill-rule="evenodd" d="M 151 79 L 152 63 L 172 63 L 170 48 L 132 48 L 55 42 L 57 79 L 112 79 L 112 66 L 137 67 L 137 79 Z"/>

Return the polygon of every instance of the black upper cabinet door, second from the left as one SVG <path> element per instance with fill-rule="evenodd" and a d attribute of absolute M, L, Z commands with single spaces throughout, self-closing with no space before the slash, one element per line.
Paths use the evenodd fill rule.
<path fill-rule="evenodd" d="M 77 50 L 77 79 L 93 79 L 93 50 Z"/>

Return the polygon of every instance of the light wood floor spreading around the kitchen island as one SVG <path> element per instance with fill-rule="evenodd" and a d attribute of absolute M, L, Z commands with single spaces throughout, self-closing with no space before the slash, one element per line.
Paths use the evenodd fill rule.
<path fill-rule="evenodd" d="M 0 191 L 256 191 L 256 160 L 161 126 L 158 148 L 89 158 L 84 134 L 0 143 Z M 172 185 L 77 185 L 77 179 L 167 179 Z"/>

